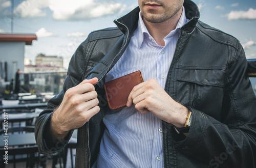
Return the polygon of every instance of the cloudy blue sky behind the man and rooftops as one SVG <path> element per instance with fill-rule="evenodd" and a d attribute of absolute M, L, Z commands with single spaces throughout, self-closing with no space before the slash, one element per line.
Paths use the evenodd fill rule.
<path fill-rule="evenodd" d="M 13 0 L 13 33 L 36 34 L 25 58 L 57 55 L 65 68 L 90 32 L 116 26 L 137 0 Z M 200 20 L 236 37 L 247 59 L 256 58 L 256 0 L 195 0 Z M 11 33 L 11 0 L 0 0 L 0 33 Z"/>

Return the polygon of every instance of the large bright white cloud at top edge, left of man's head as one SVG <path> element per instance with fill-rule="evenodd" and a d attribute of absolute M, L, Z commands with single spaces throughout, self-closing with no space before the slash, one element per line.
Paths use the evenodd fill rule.
<path fill-rule="evenodd" d="M 50 0 L 50 9 L 56 20 L 88 20 L 105 15 L 121 13 L 126 5 L 111 2 L 98 2 L 98 0 Z"/>

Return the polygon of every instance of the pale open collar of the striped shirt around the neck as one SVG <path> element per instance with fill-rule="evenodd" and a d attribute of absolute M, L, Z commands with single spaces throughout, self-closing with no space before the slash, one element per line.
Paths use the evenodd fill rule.
<path fill-rule="evenodd" d="M 188 19 L 186 18 L 186 15 L 185 15 L 185 8 L 183 7 L 183 10 L 182 10 L 182 14 L 181 14 L 181 17 L 178 21 L 178 24 L 176 25 L 176 29 L 173 30 L 172 32 L 170 32 L 165 38 L 168 38 L 168 37 L 173 37 L 177 32 L 179 32 L 178 30 L 180 30 L 180 28 L 186 24 L 186 22 L 188 21 Z M 142 20 L 142 14 L 141 14 L 141 11 L 139 12 L 139 22 L 138 22 L 138 29 L 136 31 L 138 33 L 138 47 L 140 48 L 143 41 L 144 41 L 144 38 L 149 38 L 149 37 L 152 37 L 150 35 L 150 33 L 147 31 L 146 29 L 146 26 Z"/>

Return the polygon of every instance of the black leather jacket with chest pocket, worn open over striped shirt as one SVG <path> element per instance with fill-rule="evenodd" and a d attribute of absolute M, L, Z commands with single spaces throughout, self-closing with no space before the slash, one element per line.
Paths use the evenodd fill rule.
<path fill-rule="evenodd" d="M 180 31 L 165 91 L 193 114 L 187 137 L 162 122 L 165 167 L 255 167 L 256 97 L 246 76 L 247 60 L 239 41 L 199 21 L 198 7 L 184 2 L 190 19 Z M 97 77 L 101 110 L 78 129 L 76 167 L 91 167 L 104 131 L 102 118 L 110 110 L 102 89 L 104 75 L 121 57 L 137 28 L 139 8 L 115 20 L 118 28 L 92 32 L 74 53 L 63 91 L 48 103 L 35 125 L 42 153 L 60 151 L 46 143 L 52 111 L 65 92 L 83 79 Z M 74 121 L 75 122 L 75 121 Z M 72 131 L 70 132 L 71 135 Z M 69 136 L 70 137 L 70 136 Z M 68 139 L 67 139 L 68 140 Z"/>

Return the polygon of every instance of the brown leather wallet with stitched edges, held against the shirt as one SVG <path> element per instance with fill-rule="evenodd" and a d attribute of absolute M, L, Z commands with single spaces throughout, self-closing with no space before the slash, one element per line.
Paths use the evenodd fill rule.
<path fill-rule="evenodd" d="M 136 71 L 104 83 L 104 90 L 109 107 L 111 109 L 125 107 L 133 87 L 143 81 L 141 72 Z"/>

